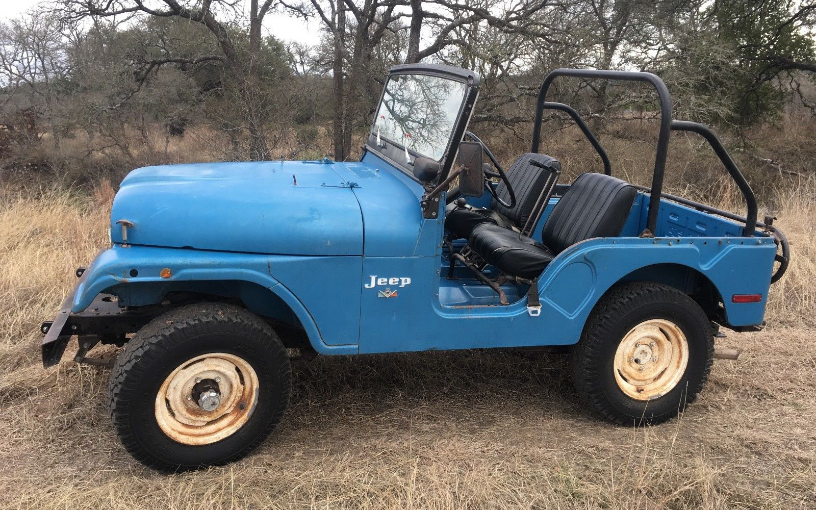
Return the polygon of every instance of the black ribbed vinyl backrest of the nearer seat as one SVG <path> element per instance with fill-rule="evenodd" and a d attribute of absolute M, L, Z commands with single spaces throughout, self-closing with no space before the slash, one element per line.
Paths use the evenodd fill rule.
<path fill-rule="evenodd" d="M 636 194 L 625 180 L 596 173 L 579 175 L 544 224 L 544 245 L 557 255 L 592 237 L 619 236 Z"/>

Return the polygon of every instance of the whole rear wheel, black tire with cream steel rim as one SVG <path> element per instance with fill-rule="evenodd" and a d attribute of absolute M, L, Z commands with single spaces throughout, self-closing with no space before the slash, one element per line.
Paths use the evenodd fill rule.
<path fill-rule="evenodd" d="M 615 424 L 659 424 L 694 401 L 713 357 L 712 324 L 694 299 L 628 282 L 592 310 L 570 349 L 570 372 L 580 396 Z"/>

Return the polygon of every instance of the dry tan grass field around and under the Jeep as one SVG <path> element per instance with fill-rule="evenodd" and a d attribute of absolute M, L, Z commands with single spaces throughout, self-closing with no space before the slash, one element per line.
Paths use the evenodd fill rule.
<path fill-rule="evenodd" d="M 112 196 L 0 196 L 0 508 L 816 508 L 813 184 L 774 197 L 795 259 L 768 327 L 720 340 L 743 356 L 715 362 L 681 419 L 606 424 L 556 355 L 319 357 L 295 366 L 254 455 L 175 476 L 119 445 L 108 370 L 39 358 L 39 324 L 107 242 Z"/>

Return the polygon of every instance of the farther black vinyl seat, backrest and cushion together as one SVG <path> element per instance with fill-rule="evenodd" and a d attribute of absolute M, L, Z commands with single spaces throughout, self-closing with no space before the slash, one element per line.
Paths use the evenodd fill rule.
<path fill-rule="evenodd" d="M 533 208 L 550 176 L 549 171 L 534 166 L 530 163 L 531 161 L 548 166 L 553 171 L 561 171 L 561 163 L 547 154 L 521 154 L 505 171 L 513 192 L 516 194 L 516 204 L 512 207 L 505 207 L 495 198 L 490 200 L 490 209 L 458 207 L 455 206 L 455 203 L 450 204 L 445 215 L 445 228 L 452 234 L 450 238 L 468 239 L 473 228 L 483 223 L 521 232 L 521 228 L 524 228 L 527 220 L 530 219 Z M 504 202 L 510 202 L 510 193 L 503 180 L 500 180 L 499 185 L 496 186 L 496 194 Z"/>

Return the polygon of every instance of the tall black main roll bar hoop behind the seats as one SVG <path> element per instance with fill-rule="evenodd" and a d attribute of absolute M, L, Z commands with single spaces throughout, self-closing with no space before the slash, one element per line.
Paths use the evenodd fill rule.
<path fill-rule="evenodd" d="M 533 144 L 531 153 L 539 152 L 541 139 L 541 120 L 544 112 L 544 100 L 553 80 L 559 76 L 571 78 L 589 78 L 601 80 L 623 80 L 628 82 L 647 82 L 654 86 L 660 101 L 660 131 L 658 134 L 658 149 L 654 156 L 654 174 L 652 175 L 651 193 L 649 199 L 649 215 L 646 216 L 646 229 L 641 235 L 653 236 L 658 224 L 660 210 L 660 193 L 663 192 L 663 175 L 666 173 L 666 157 L 668 155 L 668 140 L 672 131 L 672 96 L 663 80 L 652 73 L 636 71 L 608 71 L 599 69 L 554 69 L 544 78 L 539 90 L 539 98 L 535 104 L 535 121 L 533 125 Z"/>

